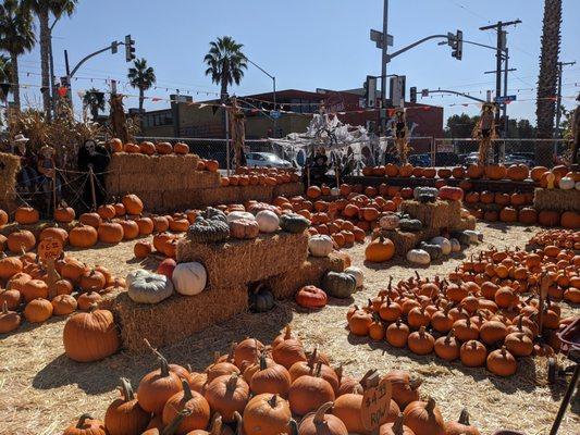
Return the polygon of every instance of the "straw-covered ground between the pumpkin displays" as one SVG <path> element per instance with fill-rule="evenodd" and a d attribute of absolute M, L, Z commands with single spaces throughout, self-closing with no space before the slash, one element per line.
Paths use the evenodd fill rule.
<path fill-rule="evenodd" d="M 455 269 L 462 258 L 489 245 L 523 248 L 526 240 L 539 229 L 488 224 L 479 224 L 479 228 L 484 233 L 481 245 L 419 273 L 443 275 Z M 392 261 L 379 268 L 366 265 L 363 249 L 363 246 L 349 249 L 354 264 L 365 271 L 365 287 L 354 297 L 357 303 L 373 297 L 386 285 L 388 276 L 397 281 L 415 271 L 404 261 Z M 139 268 L 133 259 L 133 243 L 79 251 L 76 256 L 87 264 L 106 265 L 120 276 Z M 149 260 L 146 265 L 152 268 L 155 263 Z M 331 356 L 333 364 L 344 364 L 347 374 L 361 376 L 371 368 L 381 372 L 405 369 L 420 374 L 422 396 L 434 397 L 446 420 L 456 419 L 467 407 L 472 424 L 482 434 L 491 435 L 501 428 L 528 435 L 550 432 L 567 380 L 560 377 L 555 385 L 547 385 L 545 359 L 520 360 L 516 375 L 504 380 L 484 369 L 443 363 L 432 356 L 418 357 L 386 343 L 350 336 L 346 330 L 346 311 L 351 303 L 353 300 L 332 300 L 322 311 L 306 312 L 292 301 L 282 301 L 269 313 L 239 315 L 161 350 L 171 362 L 189 363 L 194 370 L 202 370 L 210 363 L 213 351 L 226 351 L 230 343 L 246 336 L 269 343 L 291 323 L 307 349 L 318 347 Z M 580 313 L 578 307 L 565 303 L 563 307 L 566 315 Z M 63 353 L 63 325 L 64 319 L 54 318 L 39 326 L 25 324 L 12 335 L 0 336 L 0 434 L 59 434 L 81 413 L 90 412 L 102 418 L 109 402 L 116 397 L 119 377 L 128 377 L 136 385 L 145 373 L 155 369 L 149 355 L 127 352 L 98 363 L 70 361 Z M 558 434 L 579 434 L 579 413 L 577 395 Z"/>

